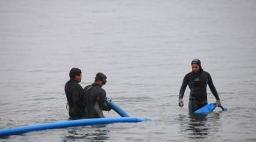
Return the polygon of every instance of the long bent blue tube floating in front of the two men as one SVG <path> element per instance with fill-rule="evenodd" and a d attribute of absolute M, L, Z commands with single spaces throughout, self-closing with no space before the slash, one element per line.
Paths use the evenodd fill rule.
<path fill-rule="evenodd" d="M 58 121 L 46 124 L 35 124 L 30 126 L 20 126 L 14 127 L 11 129 L 1 129 L 0 137 L 15 135 L 19 133 L 26 133 L 28 131 L 39 131 L 46 129 L 62 129 L 72 126 L 87 126 L 87 125 L 95 125 L 95 124 L 112 124 L 112 123 L 136 123 L 142 121 L 148 121 L 147 119 L 139 119 L 137 117 L 130 117 L 121 107 L 117 104 L 114 104 L 110 99 L 106 99 L 107 104 L 114 111 L 117 112 L 122 117 L 114 117 L 114 118 L 100 118 L 100 119 L 80 119 L 80 120 L 71 120 L 71 121 Z"/>

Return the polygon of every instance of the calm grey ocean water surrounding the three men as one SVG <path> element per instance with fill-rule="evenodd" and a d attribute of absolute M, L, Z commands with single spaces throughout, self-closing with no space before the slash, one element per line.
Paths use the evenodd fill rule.
<path fill-rule="evenodd" d="M 82 87 L 104 72 L 107 97 L 150 119 L 0 141 L 256 141 L 256 1 L 0 0 L 0 19 L 0 129 L 68 120 L 72 67 Z M 188 115 L 188 87 L 178 107 L 193 58 L 228 111 Z"/>

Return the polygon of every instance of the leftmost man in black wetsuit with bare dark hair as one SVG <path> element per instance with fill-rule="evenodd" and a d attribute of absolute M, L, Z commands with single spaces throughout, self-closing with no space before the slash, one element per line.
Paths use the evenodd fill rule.
<path fill-rule="evenodd" d="M 65 84 L 65 94 L 68 99 L 68 114 L 71 120 L 82 119 L 85 115 L 85 105 L 82 104 L 82 72 L 78 68 L 70 70 L 70 80 Z"/>

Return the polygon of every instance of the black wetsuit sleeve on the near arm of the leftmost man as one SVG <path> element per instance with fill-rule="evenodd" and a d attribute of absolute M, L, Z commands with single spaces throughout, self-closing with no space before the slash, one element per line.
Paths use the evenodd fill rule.
<path fill-rule="evenodd" d="M 80 89 L 80 87 L 76 86 L 74 87 L 73 91 L 72 91 L 72 94 L 73 94 L 73 104 L 82 108 L 82 109 L 85 109 L 85 105 L 82 104 L 82 88 Z"/>

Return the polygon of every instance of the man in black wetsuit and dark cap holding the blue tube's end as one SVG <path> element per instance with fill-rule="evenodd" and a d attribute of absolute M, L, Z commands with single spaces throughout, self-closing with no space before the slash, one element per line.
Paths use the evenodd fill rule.
<path fill-rule="evenodd" d="M 107 77 L 98 72 L 95 82 L 84 89 L 83 102 L 85 104 L 85 118 L 102 118 L 102 110 L 110 111 L 110 107 L 105 103 L 106 92 L 102 86 L 106 84 Z"/>

